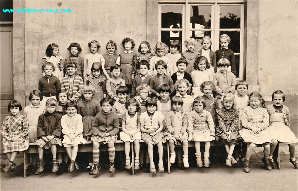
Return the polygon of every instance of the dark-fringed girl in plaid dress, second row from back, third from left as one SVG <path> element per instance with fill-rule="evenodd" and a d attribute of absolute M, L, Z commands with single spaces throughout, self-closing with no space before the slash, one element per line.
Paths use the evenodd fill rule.
<path fill-rule="evenodd" d="M 99 62 L 94 62 L 91 67 L 92 75 L 86 78 L 86 84 L 90 84 L 95 88 L 94 99 L 100 101 L 107 97 L 106 78 L 102 76 L 103 68 Z"/>

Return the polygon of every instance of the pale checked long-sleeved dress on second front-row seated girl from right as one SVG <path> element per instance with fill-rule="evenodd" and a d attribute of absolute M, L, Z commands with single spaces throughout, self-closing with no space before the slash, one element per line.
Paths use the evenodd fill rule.
<path fill-rule="evenodd" d="M 271 143 L 271 135 L 268 129 L 269 115 L 267 110 L 262 107 L 246 107 L 243 110 L 241 123 L 243 128 L 239 131 L 242 139 L 246 143 L 263 144 Z M 250 127 L 259 127 L 262 131 L 255 134 Z"/>

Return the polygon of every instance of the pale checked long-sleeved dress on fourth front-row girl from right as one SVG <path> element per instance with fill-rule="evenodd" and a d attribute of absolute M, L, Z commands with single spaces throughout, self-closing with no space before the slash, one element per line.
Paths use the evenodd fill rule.
<path fill-rule="evenodd" d="M 211 114 L 203 110 L 202 114 L 191 111 L 188 116 L 187 132 L 189 137 L 193 137 L 194 141 L 212 141 L 215 129 Z"/>

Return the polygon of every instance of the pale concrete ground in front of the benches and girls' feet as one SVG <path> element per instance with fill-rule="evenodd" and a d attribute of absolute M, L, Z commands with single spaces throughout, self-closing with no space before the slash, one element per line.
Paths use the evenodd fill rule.
<path fill-rule="evenodd" d="M 2 156 L 1 190 L 298 190 L 298 170 L 289 162 L 288 146 L 280 146 L 281 170 L 264 169 L 262 150 L 262 147 L 255 149 L 250 173 L 243 172 L 242 168 L 216 163 L 211 168 L 192 166 L 178 170 L 173 167 L 171 174 L 139 171 L 134 176 L 130 171 L 111 174 L 107 168 L 97 176 L 81 171 L 58 176 L 47 168 L 40 175 L 23 178 L 22 156 L 18 155 L 15 161 L 18 168 L 10 173 L 3 171 L 7 160 Z M 298 154 L 298 147 L 296 150 Z"/>

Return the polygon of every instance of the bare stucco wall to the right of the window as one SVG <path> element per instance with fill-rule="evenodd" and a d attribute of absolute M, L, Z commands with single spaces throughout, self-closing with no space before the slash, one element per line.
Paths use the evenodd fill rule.
<path fill-rule="evenodd" d="M 275 90 L 298 95 L 297 10 L 297 1 L 259 1 L 258 82 L 262 95 Z"/>

